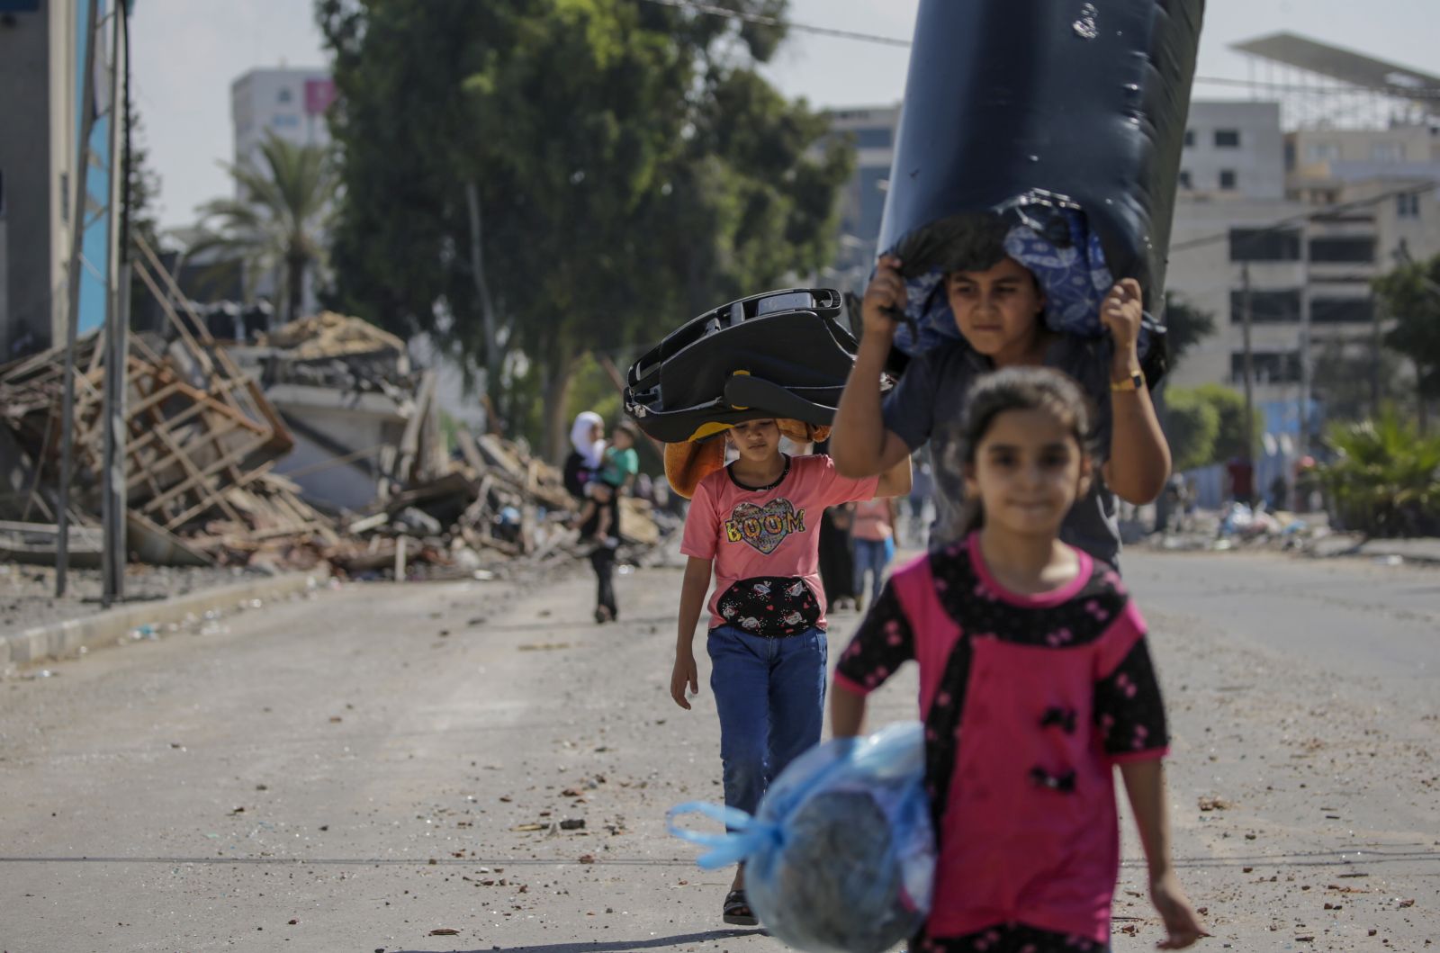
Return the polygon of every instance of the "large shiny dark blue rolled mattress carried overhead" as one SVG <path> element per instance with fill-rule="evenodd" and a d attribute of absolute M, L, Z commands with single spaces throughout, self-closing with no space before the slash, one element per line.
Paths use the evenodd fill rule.
<path fill-rule="evenodd" d="M 939 275 L 973 263 L 965 249 L 986 230 L 1020 220 L 1057 239 L 1061 256 L 1080 255 L 1063 278 L 1093 285 L 1084 295 L 1136 278 L 1159 314 L 1204 6 L 920 1 L 880 233 L 912 289 L 901 350 L 955 334 L 933 294 Z M 1097 321 L 1047 318 L 1100 333 Z"/>

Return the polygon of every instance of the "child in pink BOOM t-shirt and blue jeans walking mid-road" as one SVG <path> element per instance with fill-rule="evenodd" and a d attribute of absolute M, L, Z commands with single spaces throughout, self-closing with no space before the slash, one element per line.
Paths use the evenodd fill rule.
<path fill-rule="evenodd" d="M 880 476 L 850 479 L 827 455 L 782 453 L 782 432 L 801 442 L 821 436 L 808 425 L 773 419 L 726 432 L 739 459 L 694 484 L 680 546 L 688 561 L 670 694 L 688 710 L 687 690 L 691 695 L 700 690 L 693 642 L 708 608 L 706 649 L 720 714 L 724 802 L 747 813 L 755 813 L 770 780 L 821 737 L 828 656 L 821 511 L 910 489 L 909 456 Z M 667 456 L 694 446 L 671 445 Z M 744 895 L 743 865 L 721 914 L 733 926 L 757 923 Z"/>

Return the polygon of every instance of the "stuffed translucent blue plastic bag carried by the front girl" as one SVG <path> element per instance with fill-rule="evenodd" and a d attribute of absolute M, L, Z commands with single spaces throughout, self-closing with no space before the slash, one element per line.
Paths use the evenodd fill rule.
<path fill-rule="evenodd" d="M 675 826 L 700 813 L 729 834 Z M 670 812 L 670 832 L 711 848 L 706 870 L 744 862 L 760 924 L 806 953 L 881 953 L 930 913 L 935 831 L 924 793 L 924 730 L 891 724 L 795 759 L 756 815 L 701 802 Z"/>

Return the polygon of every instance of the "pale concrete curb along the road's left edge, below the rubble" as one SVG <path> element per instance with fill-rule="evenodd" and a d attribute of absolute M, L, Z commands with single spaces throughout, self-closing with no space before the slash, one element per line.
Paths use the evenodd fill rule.
<path fill-rule="evenodd" d="M 203 616 L 216 609 L 232 609 L 252 599 L 278 599 L 307 592 L 328 579 L 330 573 L 287 573 L 253 582 L 203 589 L 158 602 L 140 602 L 117 609 L 105 609 L 81 619 L 66 619 L 52 625 L 26 629 L 19 635 L 0 635 L 0 669 L 7 664 L 24 665 L 48 658 L 60 658 L 81 648 L 114 645 L 125 633 L 143 625 L 183 622 L 186 616 Z"/>

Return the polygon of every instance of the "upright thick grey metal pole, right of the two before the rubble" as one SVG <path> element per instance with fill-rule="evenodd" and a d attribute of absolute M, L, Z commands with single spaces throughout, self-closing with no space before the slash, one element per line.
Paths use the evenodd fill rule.
<path fill-rule="evenodd" d="M 104 550 L 101 556 L 101 605 L 109 608 L 117 599 L 125 597 L 125 351 L 130 333 L 130 298 L 125 253 L 125 155 L 121 143 L 130 143 L 130 128 L 121 140 L 121 122 L 128 121 L 128 109 L 122 107 L 130 95 L 128 62 L 121 73 L 121 58 L 125 56 L 124 4 L 118 4 L 111 16 L 111 62 L 109 62 L 109 214 L 107 216 L 107 248 L 109 250 L 108 295 L 109 308 L 105 314 L 105 390 L 101 415 L 104 426 L 105 461 L 101 466 L 101 525 L 104 528 Z"/>

